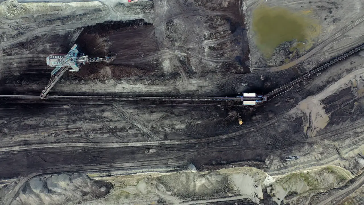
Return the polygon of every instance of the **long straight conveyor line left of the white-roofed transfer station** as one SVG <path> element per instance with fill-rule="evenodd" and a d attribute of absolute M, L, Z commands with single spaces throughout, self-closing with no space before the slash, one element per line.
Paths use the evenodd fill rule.
<path fill-rule="evenodd" d="M 30 95 L 0 95 L 0 98 L 18 98 L 18 99 L 39 99 L 39 96 Z M 142 97 L 142 96 L 48 96 L 49 100 L 162 100 L 162 101 L 179 101 L 179 100 L 202 100 L 202 101 L 242 101 L 242 100 L 262 100 L 262 97 Z"/>

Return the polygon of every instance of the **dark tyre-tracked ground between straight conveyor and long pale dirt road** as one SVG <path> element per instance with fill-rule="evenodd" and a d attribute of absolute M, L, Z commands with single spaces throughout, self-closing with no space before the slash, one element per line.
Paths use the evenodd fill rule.
<path fill-rule="evenodd" d="M 71 142 L 75 139 L 100 143 L 151 140 L 132 125 L 135 117 L 141 118 L 138 123 L 164 140 L 208 138 L 226 134 L 227 130 L 236 130 L 237 124 L 232 123 L 236 122 L 236 117 L 229 116 L 229 113 L 241 110 L 237 103 L 203 101 L 86 100 L 70 104 L 70 101 L 5 100 L 1 103 L 3 117 L 7 119 L 7 123 L 1 124 L 6 131 L 3 144 L 9 143 L 9 146 L 25 142 L 40 143 L 39 140 L 43 143 Z M 247 109 L 245 113 L 249 111 Z M 179 125 L 182 127 L 178 128 Z M 163 127 L 171 131 L 166 132 Z M 20 139 L 19 131 L 34 135 L 31 139 Z M 43 132 L 48 135 L 46 139 L 37 136 Z M 94 132 L 92 138 L 90 132 Z"/>

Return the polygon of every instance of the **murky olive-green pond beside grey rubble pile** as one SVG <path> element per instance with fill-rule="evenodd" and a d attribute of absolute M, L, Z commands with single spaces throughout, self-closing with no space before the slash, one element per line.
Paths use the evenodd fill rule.
<path fill-rule="evenodd" d="M 283 7 L 260 5 L 253 11 L 252 30 L 255 42 L 265 58 L 284 42 L 294 41 L 290 50 L 302 52 L 312 46 L 320 34 L 318 20 L 310 18 L 309 11 L 293 12 Z"/>

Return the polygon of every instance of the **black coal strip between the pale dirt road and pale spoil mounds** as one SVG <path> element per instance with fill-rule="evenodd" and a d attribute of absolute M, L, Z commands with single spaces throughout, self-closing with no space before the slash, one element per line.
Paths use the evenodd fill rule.
<path fill-rule="evenodd" d="M 221 143 L 215 143 L 221 144 Z M 257 160 L 261 151 L 242 151 L 239 149 L 219 148 L 199 144 L 153 147 L 123 147 L 123 148 L 42 148 L 17 152 L 3 152 L 0 155 L 2 178 L 13 178 L 31 173 L 64 173 L 79 171 L 118 170 L 130 173 L 138 169 L 171 168 L 194 162 L 201 166 L 198 160 L 209 163 L 216 161 L 214 151 L 219 153 L 220 160 Z M 154 149 L 155 152 L 147 152 Z M 251 157 L 251 158 L 249 158 Z M 255 159 L 252 159 L 255 158 Z M 203 163 L 203 162 L 201 162 Z"/>

